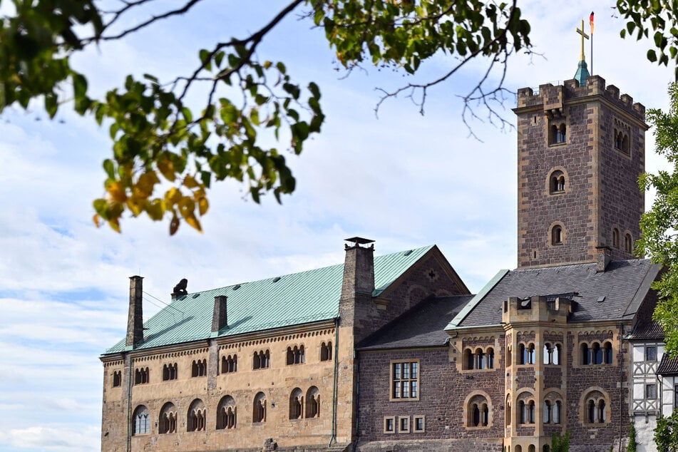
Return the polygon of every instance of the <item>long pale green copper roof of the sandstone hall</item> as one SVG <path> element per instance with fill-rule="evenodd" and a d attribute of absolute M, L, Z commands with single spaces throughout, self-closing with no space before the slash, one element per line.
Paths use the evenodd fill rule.
<path fill-rule="evenodd" d="M 433 245 L 374 258 L 374 292 L 378 296 L 431 250 Z M 144 341 L 135 349 L 199 341 L 212 336 L 214 297 L 228 297 L 228 327 L 220 337 L 339 317 L 344 264 L 282 277 L 205 290 L 176 299 L 144 323 Z M 125 339 L 105 354 L 125 350 Z"/>

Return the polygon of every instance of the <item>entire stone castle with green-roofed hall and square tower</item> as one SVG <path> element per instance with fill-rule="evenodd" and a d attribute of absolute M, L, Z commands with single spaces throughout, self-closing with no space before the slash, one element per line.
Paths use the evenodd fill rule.
<path fill-rule="evenodd" d="M 581 68 L 581 67 L 580 67 Z M 583 66 L 585 69 L 585 66 Z M 518 268 L 470 294 L 436 246 L 185 293 L 103 361 L 104 451 L 654 450 L 678 364 L 633 255 L 644 107 L 600 76 L 518 92 Z"/>

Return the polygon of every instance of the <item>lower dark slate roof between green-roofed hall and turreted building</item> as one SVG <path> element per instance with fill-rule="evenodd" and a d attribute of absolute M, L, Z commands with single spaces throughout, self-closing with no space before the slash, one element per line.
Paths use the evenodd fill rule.
<path fill-rule="evenodd" d="M 444 345 L 445 326 L 473 295 L 431 297 L 362 341 L 356 349 L 400 349 Z"/>

